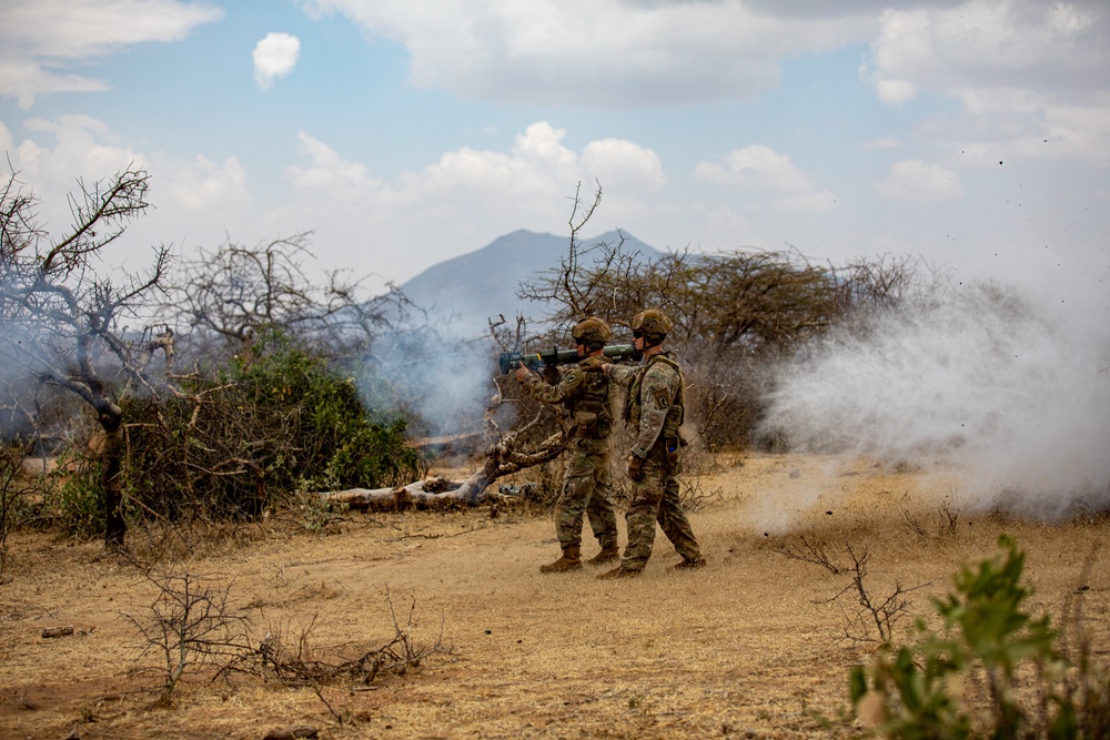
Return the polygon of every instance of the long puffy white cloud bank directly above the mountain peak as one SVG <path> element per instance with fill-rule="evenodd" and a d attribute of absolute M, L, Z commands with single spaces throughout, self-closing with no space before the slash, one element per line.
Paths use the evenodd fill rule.
<path fill-rule="evenodd" d="M 581 184 L 579 196 L 588 200 L 595 180 L 606 193 L 605 219 L 626 223 L 665 186 L 666 173 L 652 150 L 601 139 L 579 151 L 566 145 L 565 135 L 565 129 L 537 121 L 507 150 L 463 146 L 386 181 L 366 164 L 302 133 L 301 153 L 309 162 L 285 171 L 292 187 L 283 219 L 310 223 L 311 216 L 311 224 L 326 224 L 333 236 L 337 230 L 349 234 L 343 243 L 372 243 L 380 255 L 375 271 L 397 275 L 411 255 L 404 246 L 386 245 L 422 244 L 425 261 L 434 262 L 454 254 L 452 241 L 481 243 L 522 226 L 558 230 L 571 213 L 568 199 Z"/>

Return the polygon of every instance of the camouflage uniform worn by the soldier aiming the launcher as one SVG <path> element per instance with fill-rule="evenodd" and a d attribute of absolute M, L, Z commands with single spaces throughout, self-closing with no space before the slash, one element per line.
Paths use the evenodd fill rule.
<path fill-rule="evenodd" d="M 564 558 L 577 560 L 582 546 L 583 513 L 589 519 L 602 551 L 616 559 L 617 517 L 610 503 L 613 475 L 609 472 L 609 378 L 596 365 L 578 363 L 557 385 L 529 375 L 524 388 L 529 396 L 548 404 L 564 404 L 574 420 L 563 478 L 563 493 L 555 508 L 555 534 Z M 601 561 L 601 560 L 598 560 Z"/>

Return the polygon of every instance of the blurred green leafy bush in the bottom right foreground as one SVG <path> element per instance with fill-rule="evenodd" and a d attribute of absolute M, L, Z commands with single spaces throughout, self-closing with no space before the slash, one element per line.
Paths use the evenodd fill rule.
<path fill-rule="evenodd" d="M 1107 737 L 1106 675 L 1086 655 L 1077 669 L 1057 649 L 1049 617 L 1022 610 L 1031 594 L 1021 585 L 1025 554 L 1005 535 L 999 547 L 1000 556 L 956 574 L 955 594 L 934 599 L 942 633 L 919 619 L 915 643 L 886 645 L 870 669 L 852 669 L 852 706 L 880 732 L 914 740 Z M 1019 686 L 1021 666 L 1031 672 Z"/>

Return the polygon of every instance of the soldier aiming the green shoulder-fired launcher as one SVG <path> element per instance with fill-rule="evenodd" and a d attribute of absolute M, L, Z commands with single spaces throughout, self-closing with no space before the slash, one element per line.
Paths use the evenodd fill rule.
<path fill-rule="evenodd" d="M 605 343 L 612 336 L 608 325 L 591 317 L 578 322 L 571 332 L 575 348 L 583 358 L 562 379 L 552 385 L 533 375 L 521 363 L 516 379 L 529 396 L 548 404 L 564 404 L 574 422 L 571 459 L 563 478 L 563 493 L 555 507 L 555 534 L 563 555 L 541 566 L 541 572 L 565 572 L 582 568 L 583 511 L 602 546 L 588 560 L 602 565 L 617 560 L 617 516 L 609 500 L 613 476 L 609 473 L 609 432 L 613 412 L 609 404 L 609 378 L 602 372 Z M 588 361 L 588 362 L 587 362 Z"/>

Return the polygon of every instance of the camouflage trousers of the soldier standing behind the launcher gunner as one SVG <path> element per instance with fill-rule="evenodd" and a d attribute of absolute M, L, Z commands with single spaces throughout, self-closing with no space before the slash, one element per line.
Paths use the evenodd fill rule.
<path fill-rule="evenodd" d="M 644 477 L 633 483 L 632 503 L 625 514 L 628 546 L 620 562 L 623 569 L 643 570 L 647 565 L 655 543 L 656 521 L 678 555 L 687 560 L 702 557 L 702 548 L 678 498 L 678 479 L 675 477 L 677 467 L 677 464 L 673 466 L 667 460 L 662 442 L 647 454 L 640 467 Z"/>

